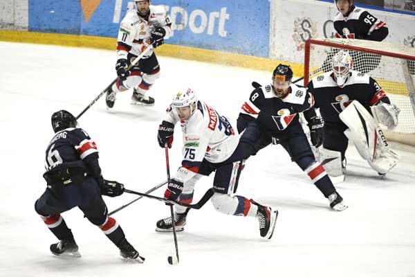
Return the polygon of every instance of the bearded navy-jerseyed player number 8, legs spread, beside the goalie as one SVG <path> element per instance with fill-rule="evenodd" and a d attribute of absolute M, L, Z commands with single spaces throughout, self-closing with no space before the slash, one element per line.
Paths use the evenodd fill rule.
<path fill-rule="evenodd" d="M 318 147 L 322 142 L 322 120 L 315 114 L 314 98 L 306 88 L 291 83 L 290 66 L 279 64 L 273 72 L 273 83 L 261 87 L 256 82 L 249 100 L 243 103 L 238 117 L 238 132 L 243 134 L 240 144 L 250 145 L 245 158 L 255 155 L 271 142 L 280 144 L 290 154 L 292 161 L 307 173 L 315 186 L 329 199 L 331 208 L 347 208 L 335 190 L 324 168 L 315 160 L 306 134 L 299 123 L 299 113 L 304 114 L 311 130 L 311 141 Z"/>

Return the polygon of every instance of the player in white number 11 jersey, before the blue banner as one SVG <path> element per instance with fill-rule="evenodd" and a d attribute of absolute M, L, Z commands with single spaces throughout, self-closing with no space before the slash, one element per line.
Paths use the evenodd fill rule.
<path fill-rule="evenodd" d="M 134 1 L 136 10 L 130 10 L 122 19 L 118 31 L 116 71 L 118 80 L 107 91 L 107 107 L 111 109 L 116 93 L 133 89 L 131 104 L 154 105 L 147 92 L 160 75 L 156 54 L 150 49 L 147 55 L 133 66 L 127 67 L 147 47 L 156 48 L 172 36 L 172 25 L 164 6 L 152 6 L 149 0 Z"/>

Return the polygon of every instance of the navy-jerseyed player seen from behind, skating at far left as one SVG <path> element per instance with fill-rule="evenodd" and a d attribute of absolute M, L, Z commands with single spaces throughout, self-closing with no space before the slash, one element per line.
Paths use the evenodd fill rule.
<path fill-rule="evenodd" d="M 144 258 L 125 239 L 118 222 L 108 216 L 102 195 L 121 195 L 124 186 L 102 177 L 95 142 L 77 127 L 77 120 L 68 111 L 55 112 L 52 127 L 55 136 L 48 145 L 45 159 L 47 188 L 35 202 L 36 212 L 59 239 L 58 243 L 50 245 L 50 251 L 58 256 L 80 257 L 73 233 L 61 215 L 77 206 L 116 244 L 123 258 L 143 262 Z"/>

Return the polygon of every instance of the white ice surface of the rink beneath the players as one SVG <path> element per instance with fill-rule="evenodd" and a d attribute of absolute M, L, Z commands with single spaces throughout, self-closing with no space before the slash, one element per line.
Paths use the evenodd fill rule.
<path fill-rule="evenodd" d="M 113 111 L 104 98 L 80 118 L 98 145 L 104 178 L 144 193 L 165 181 L 165 151 L 156 141 L 158 124 L 174 93 L 192 87 L 219 113 L 237 118 L 250 83 L 270 82 L 272 73 L 158 57 L 161 75 L 151 96 L 154 107 L 129 105 L 118 94 Z M 34 210 L 46 183 L 44 152 L 53 137 L 50 116 L 67 109 L 75 116 L 116 77 L 115 51 L 0 42 L 0 276 L 415 276 L 415 148 L 390 143 L 401 161 L 378 177 L 353 145 L 347 177 L 336 185 L 349 208 L 331 211 L 327 199 L 281 146 L 248 159 L 238 194 L 279 211 L 271 240 L 259 236 L 254 218 L 214 211 L 208 202 L 187 216 L 178 233 L 180 263 L 172 266 L 171 233 L 156 233 L 169 216 L 162 202 L 140 199 L 114 214 L 127 240 L 146 258 L 125 262 L 105 235 L 74 208 L 63 216 L 82 258 L 53 256 L 57 242 Z M 169 151 L 172 175 L 181 162 L 181 129 Z M 198 201 L 212 184 L 196 184 Z M 163 196 L 165 187 L 153 194 Z M 136 199 L 104 197 L 109 211 Z"/>

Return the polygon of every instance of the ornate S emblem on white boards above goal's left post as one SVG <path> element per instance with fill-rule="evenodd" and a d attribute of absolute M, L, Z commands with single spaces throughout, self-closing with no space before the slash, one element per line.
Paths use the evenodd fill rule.
<path fill-rule="evenodd" d="M 297 51 L 302 51 L 306 41 L 317 36 L 317 26 L 310 17 L 296 18 L 294 20 L 293 39 L 297 46 Z"/>

